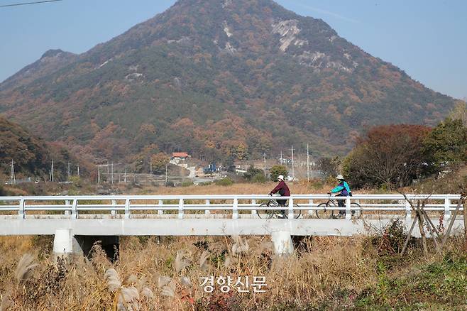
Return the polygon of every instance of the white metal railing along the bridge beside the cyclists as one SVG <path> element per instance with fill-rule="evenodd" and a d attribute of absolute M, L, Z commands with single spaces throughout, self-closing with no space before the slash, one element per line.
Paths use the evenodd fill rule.
<path fill-rule="evenodd" d="M 278 197 L 273 197 L 278 199 Z M 159 215 L 160 217 L 184 219 L 188 214 L 205 214 L 222 211 L 226 218 L 255 218 L 261 209 L 286 209 L 289 219 L 300 209 L 302 218 L 310 217 L 314 211 L 324 210 L 320 203 L 329 200 L 329 195 L 291 195 L 280 197 L 289 200 L 287 207 L 260 207 L 272 197 L 268 195 L 143 195 L 143 196 L 45 196 L 45 197 L 0 197 L 1 215 L 17 214 L 19 219 L 38 215 L 38 212 L 62 212 L 64 217 L 79 219 L 84 214 L 93 214 L 94 219 L 114 217 L 131 219 L 141 215 Z M 407 219 L 413 216 L 409 202 L 402 195 L 354 195 L 353 197 L 331 197 L 344 200 L 345 207 L 327 207 L 327 209 L 346 211 L 346 219 L 351 219 L 351 211 L 366 215 L 384 212 L 399 212 Z M 444 219 L 449 219 L 456 208 L 460 195 L 407 195 L 409 200 L 426 200 L 427 212 L 444 212 Z M 358 206 L 351 203 L 357 202 Z M 297 204 L 297 205 L 295 205 Z M 461 208 L 461 210 L 463 210 Z M 104 212 L 97 214 L 97 212 Z M 146 213 L 146 214 L 145 214 Z M 39 213 L 40 214 L 40 213 Z M 219 213 L 216 213 L 219 214 Z M 202 217 L 197 215 L 198 218 Z"/>

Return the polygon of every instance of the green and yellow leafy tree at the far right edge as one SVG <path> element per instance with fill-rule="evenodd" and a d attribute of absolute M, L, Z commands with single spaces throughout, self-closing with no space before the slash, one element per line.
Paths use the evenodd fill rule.
<path fill-rule="evenodd" d="M 446 165 L 464 163 L 467 161 L 467 127 L 461 119 L 448 118 L 429 133 L 423 146 L 425 152 L 433 155 L 438 170 Z"/>

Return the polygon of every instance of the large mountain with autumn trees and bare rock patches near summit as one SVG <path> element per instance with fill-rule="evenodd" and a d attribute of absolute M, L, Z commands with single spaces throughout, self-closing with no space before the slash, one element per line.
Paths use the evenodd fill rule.
<path fill-rule="evenodd" d="M 93 160 L 346 153 L 368 126 L 434 125 L 455 102 L 270 0 L 180 0 L 31 66 L 0 84 L 0 112 Z"/>

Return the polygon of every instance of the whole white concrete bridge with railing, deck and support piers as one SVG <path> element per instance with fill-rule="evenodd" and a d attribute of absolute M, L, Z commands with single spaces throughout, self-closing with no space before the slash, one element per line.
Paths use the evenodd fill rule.
<path fill-rule="evenodd" d="M 460 198 L 407 195 L 415 204 L 424 200 L 434 224 L 442 220 L 445 226 Z M 0 235 L 55 235 L 56 253 L 86 253 L 94 241 L 113 245 L 118 244 L 118 236 L 128 235 L 271 235 L 280 252 L 280 245 L 290 244 L 290 236 L 374 234 L 397 218 L 410 227 L 414 217 L 402 195 L 334 197 L 344 200 L 345 207 L 320 205 L 329 195 L 292 195 L 287 207 L 260 206 L 270 199 L 268 195 L 0 197 Z M 285 209 L 287 219 L 265 219 L 265 211 L 271 209 Z M 331 210 L 345 211 L 345 219 L 324 219 Z M 463 230 L 461 214 L 452 234 Z"/>

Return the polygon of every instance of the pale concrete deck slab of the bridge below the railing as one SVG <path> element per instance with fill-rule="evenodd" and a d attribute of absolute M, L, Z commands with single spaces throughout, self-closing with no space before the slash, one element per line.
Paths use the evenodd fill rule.
<path fill-rule="evenodd" d="M 215 236 L 265 235 L 290 231 L 300 236 L 351 236 L 374 234 L 392 219 L 17 219 L 2 217 L 0 235 L 55 234 L 57 229 L 71 229 L 84 236 Z M 436 224 L 437 219 L 432 219 Z M 405 221 L 407 230 L 411 222 Z M 463 219 L 456 219 L 453 234 L 463 230 Z M 414 230 L 417 236 L 418 230 Z"/>

